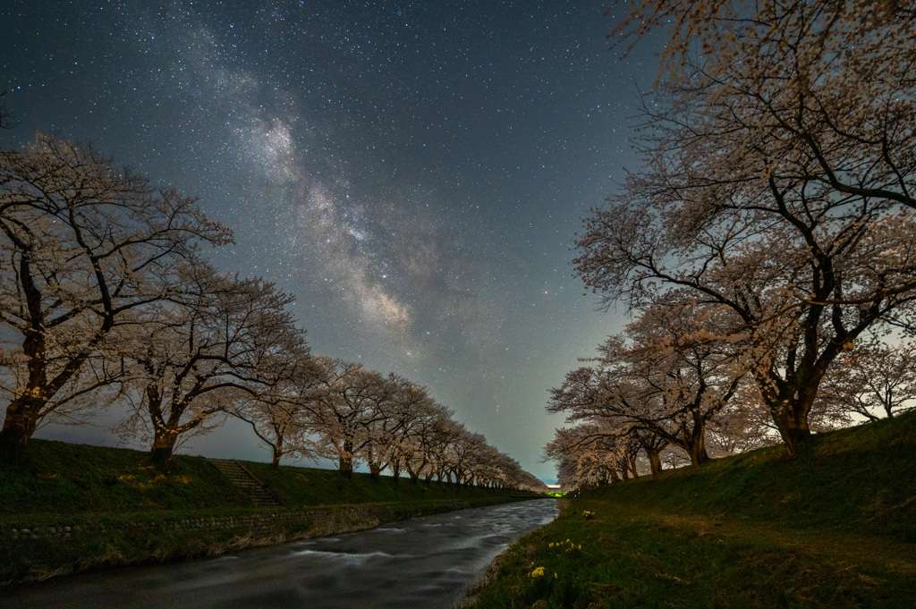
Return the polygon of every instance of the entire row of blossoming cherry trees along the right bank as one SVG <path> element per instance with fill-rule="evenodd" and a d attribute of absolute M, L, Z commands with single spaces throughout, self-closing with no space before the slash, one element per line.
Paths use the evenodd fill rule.
<path fill-rule="evenodd" d="M 585 220 L 574 265 L 635 321 L 551 393 L 579 425 L 548 448 L 562 471 L 613 453 L 613 479 L 634 451 L 657 471 L 672 446 L 702 464 L 710 439 L 734 451 L 774 431 L 794 456 L 851 412 L 907 407 L 914 17 L 912 2 L 630 5 L 614 41 L 667 24 L 663 72 L 642 166 Z"/>

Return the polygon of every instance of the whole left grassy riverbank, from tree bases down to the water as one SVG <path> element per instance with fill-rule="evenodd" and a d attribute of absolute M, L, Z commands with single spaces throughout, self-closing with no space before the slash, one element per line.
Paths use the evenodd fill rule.
<path fill-rule="evenodd" d="M 257 507 L 202 457 L 169 475 L 146 453 L 30 440 L 0 469 L 0 583 L 99 567 L 216 556 L 381 522 L 537 496 L 243 462 L 283 503 Z"/>

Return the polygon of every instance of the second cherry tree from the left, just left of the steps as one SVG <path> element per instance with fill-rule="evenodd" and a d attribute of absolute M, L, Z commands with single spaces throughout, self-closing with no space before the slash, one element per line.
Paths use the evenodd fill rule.
<path fill-rule="evenodd" d="M 151 439 L 150 462 L 159 467 L 181 436 L 208 430 L 236 400 L 291 380 L 290 353 L 308 356 L 304 332 L 284 309 L 291 297 L 273 284 L 219 274 L 202 262 L 184 267 L 181 277 L 180 299 L 151 307 L 125 353 L 136 364 L 142 397 L 121 430 Z"/>

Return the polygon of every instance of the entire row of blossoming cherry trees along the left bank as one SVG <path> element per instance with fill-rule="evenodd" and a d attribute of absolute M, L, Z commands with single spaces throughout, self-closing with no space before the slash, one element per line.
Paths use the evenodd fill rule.
<path fill-rule="evenodd" d="M 344 473 L 540 487 L 425 388 L 312 356 L 273 284 L 217 272 L 201 245 L 231 231 L 92 147 L 39 135 L 0 150 L 0 457 L 50 421 L 125 409 L 117 430 L 169 463 L 227 416 L 273 452 Z"/>

